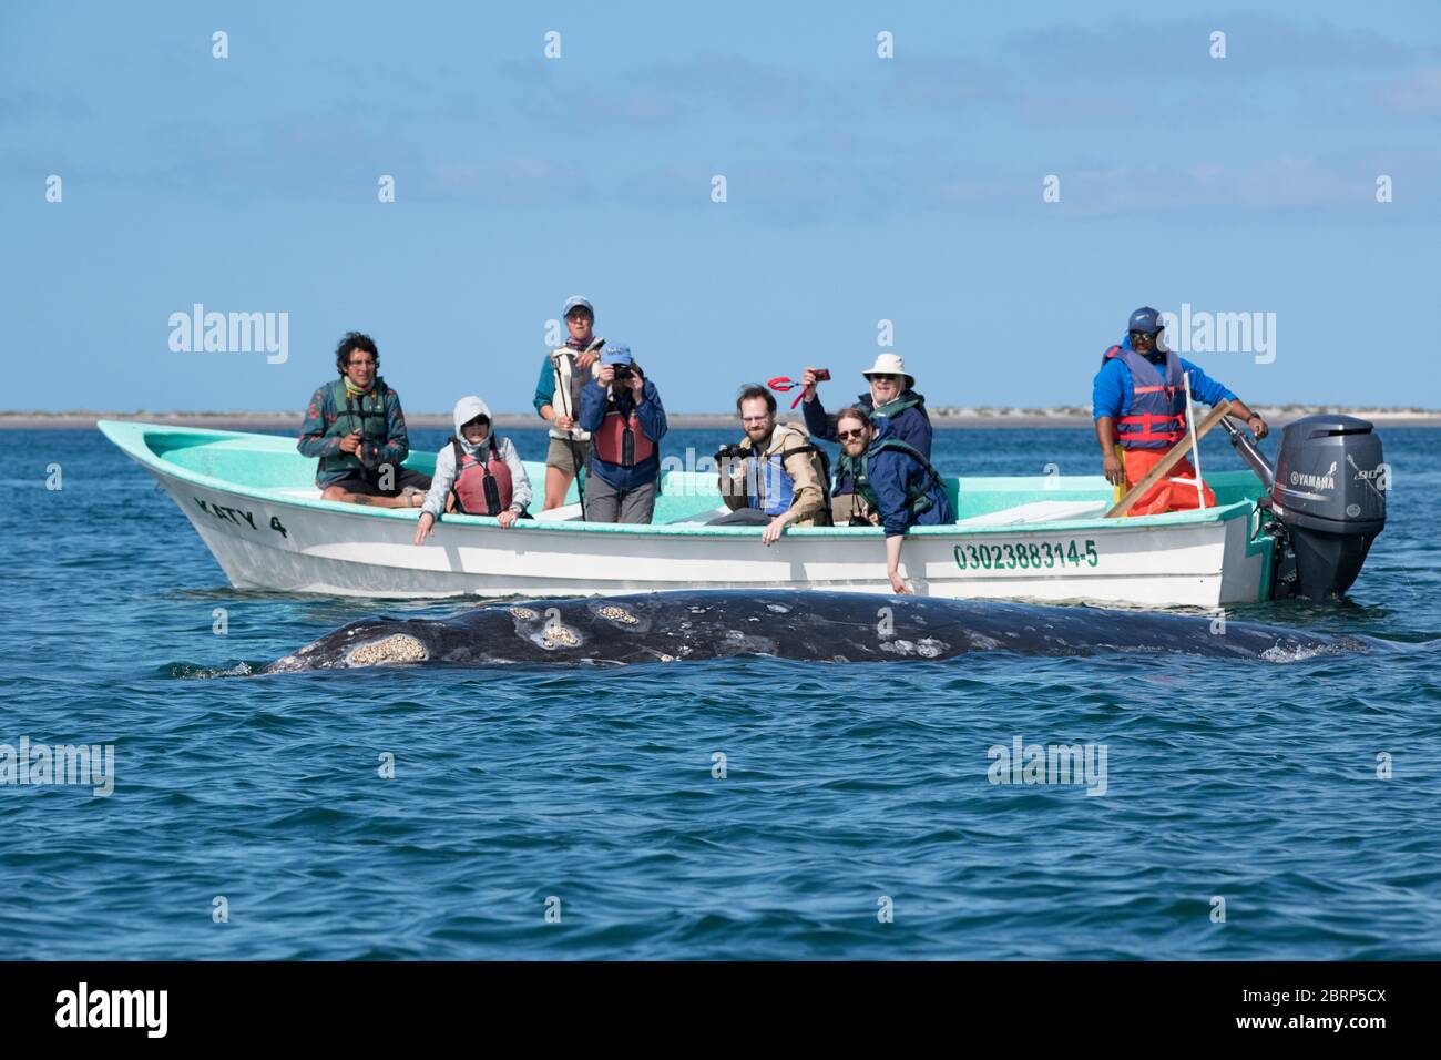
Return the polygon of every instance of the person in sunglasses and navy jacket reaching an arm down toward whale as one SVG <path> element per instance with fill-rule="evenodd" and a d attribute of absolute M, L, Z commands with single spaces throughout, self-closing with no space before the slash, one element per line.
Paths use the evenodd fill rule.
<path fill-rule="evenodd" d="M 955 522 L 945 482 L 915 447 L 895 437 L 889 417 L 865 408 L 836 415 L 840 460 L 836 477 L 850 476 L 856 496 L 866 502 L 869 521 L 886 531 L 886 577 L 896 593 L 911 593 L 901 577 L 901 545 L 911 526 Z"/>

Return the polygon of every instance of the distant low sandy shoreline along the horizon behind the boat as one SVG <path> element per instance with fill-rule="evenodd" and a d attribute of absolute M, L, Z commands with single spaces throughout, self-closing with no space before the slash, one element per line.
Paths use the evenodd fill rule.
<path fill-rule="evenodd" d="M 1274 425 L 1316 412 L 1346 412 L 1370 420 L 1379 427 L 1441 427 L 1441 411 L 1427 408 L 1343 408 L 1337 405 L 1258 405 L 1257 411 Z M 1089 427 L 1091 412 L 1085 408 L 931 408 L 931 424 L 937 428 L 955 427 Z M 298 431 L 304 412 L 0 412 L 0 430 L 84 430 L 97 420 L 138 420 L 173 427 L 210 427 L 215 430 L 285 430 Z M 673 412 L 666 417 L 677 430 L 732 430 L 736 418 L 726 412 Z M 782 410 L 782 420 L 787 418 Z M 800 415 L 797 412 L 797 420 Z M 450 430 L 451 417 L 444 412 L 406 412 L 406 424 L 425 430 Z M 533 412 L 500 412 L 496 425 L 501 430 L 542 428 Z"/>

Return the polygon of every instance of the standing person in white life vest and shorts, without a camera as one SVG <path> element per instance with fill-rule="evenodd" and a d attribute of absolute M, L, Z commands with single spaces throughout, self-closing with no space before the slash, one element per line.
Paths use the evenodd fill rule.
<path fill-rule="evenodd" d="M 591 436 L 576 424 L 581 389 L 595 376 L 595 362 L 605 339 L 594 333 L 595 307 L 589 299 L 572 294 L 565 300 L 565 345 L 546 353 L 536 381 L 535 407 L 550 424 L 550 446 L 545 454 L 545 509 L 565 503 L 566 490 L 581 473 Z"/>

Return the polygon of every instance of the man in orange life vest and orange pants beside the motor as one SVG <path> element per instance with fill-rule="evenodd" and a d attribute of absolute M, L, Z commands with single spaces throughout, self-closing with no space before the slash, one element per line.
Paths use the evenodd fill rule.
<path fill-rule="evenodd" d="M 1146 477 L 1176 443 L 1186 437 L 1186 379 L 1197 401 L 1215 405 L 1231 399 L 1231 415 L 1245 420 L 1258 438 L 1267 424 L 1241 398 L 1209 378 L 1174 350 L 1161 349 L 1161 319 L 1150 306 L 1131 313 L 1125 339 L 1101 355 L 1101 371 L 1091 391 L 1095 438 L 1107 482 L 1130 489 Z M 1215 493 L 1202 485 L 1205 508 L 1216 503 Z M 1180 460 L 1144 496 L 1128 515 L 1156 515 L 1197 508 L 1196 469 Z"/>

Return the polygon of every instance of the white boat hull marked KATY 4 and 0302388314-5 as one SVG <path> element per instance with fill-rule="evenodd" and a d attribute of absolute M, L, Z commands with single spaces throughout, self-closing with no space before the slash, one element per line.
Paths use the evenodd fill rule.
<path fill-rule="evenodd" d="M 128 425 L 128 424 L 127 424 Z M 171 496 L 236 588 L 363 597 L 586 596 L 669 588 L 891 594 L 879 529 L 588 526 L 445 518 L 232 487 L 131 453 Z M 1265 551 L 1245 505 L 1200 521 L 1089 519 L 919 528 L 902 573 L 921 596 L 1216 609 L 1262 596 Z"/>

